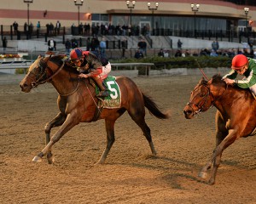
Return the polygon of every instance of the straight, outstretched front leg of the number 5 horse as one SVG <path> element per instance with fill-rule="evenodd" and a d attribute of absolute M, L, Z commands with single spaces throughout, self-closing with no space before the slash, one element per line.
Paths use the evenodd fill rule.
<path fill-rule="evenodd" d="M 42 157 L 49 153 L 53 144 L 55 144 L 61 137 L 67 133 L 70 129 L 72 129 L 75 125 L 79 124 L 79 119 L 76 113 L 70 113 L 67 115 L 66 121 L 61 125 L 60 129 L 53 135 L 53 137 L 49 140 L 49 143 L 46 144 L 44 150 L 42 150 L 38 156 L 35 156 L 32 161 L 41 161 Z"/>

